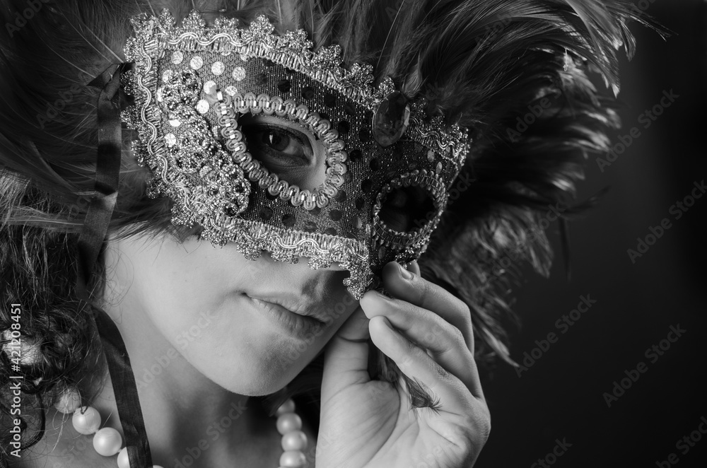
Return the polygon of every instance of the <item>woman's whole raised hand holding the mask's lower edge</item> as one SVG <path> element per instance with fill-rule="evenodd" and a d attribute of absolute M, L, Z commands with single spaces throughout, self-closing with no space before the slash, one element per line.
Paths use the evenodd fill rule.
<path fill-rule="evenodd" d="M 470 468 L 491 430 L 469 308 L 395 262 L 325 351 L 317 468 Z M 406 276 L 410 276 L 407 278 Z M 369 335 L 370 334 L 370 335 Z M 440 402 L 410 409 L 402 379 L 371 380 L 367 339 Z"/>

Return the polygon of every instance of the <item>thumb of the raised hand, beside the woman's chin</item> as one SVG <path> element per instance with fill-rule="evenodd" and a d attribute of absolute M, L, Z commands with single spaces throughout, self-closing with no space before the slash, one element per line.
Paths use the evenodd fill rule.
<path fill-rule="evenodd" d="M 368 317 L 358 307 L 334 334 L 324 353 L 322 402 L 350 385 L 365 383 L 368 375 Z"/>

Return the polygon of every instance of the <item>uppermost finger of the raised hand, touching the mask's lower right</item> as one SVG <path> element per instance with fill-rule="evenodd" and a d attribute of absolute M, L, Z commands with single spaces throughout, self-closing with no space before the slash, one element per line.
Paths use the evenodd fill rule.
<path fill-rule="evenodd" d="M 390 262 L 383 267 L 382 279 L 385 289 L 395 298 L 431 310 L 460 329 L 467 348 L 474 352 L 472 317 L 464 301 L 414 271 L 404 269 L 397 262 Z"/>

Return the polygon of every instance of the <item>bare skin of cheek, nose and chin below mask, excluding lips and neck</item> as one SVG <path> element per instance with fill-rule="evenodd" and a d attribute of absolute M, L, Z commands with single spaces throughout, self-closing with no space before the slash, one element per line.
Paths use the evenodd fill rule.
<path fill-rule="evenodd" d="M 165 344 L 152 356 L 171 346 L 231 392 L 269 394 L 292 380 L 345 318 L 322 323 L 323 331 L 309 344 L 281 332 L 252 305 L 248 296 L 279 298 L 291 310 L 326 313 L 329 305 L 350 298 L 342 284 L 346 271 L 313 270 L 306 260 L 286 264 L 264 254 L 252 262 L 232 244 L 219 249 L 195 239 L 182 245 L 120 240 L 107 258 L 114 267 L 106 302 L 124 327 L 140 317 L 127 339 L 134 333 L 153 337 L 142 347 L 154 349 L 151 342 L 163 337 Z M 302 342 L 307 346 L 299 351 Z"/>

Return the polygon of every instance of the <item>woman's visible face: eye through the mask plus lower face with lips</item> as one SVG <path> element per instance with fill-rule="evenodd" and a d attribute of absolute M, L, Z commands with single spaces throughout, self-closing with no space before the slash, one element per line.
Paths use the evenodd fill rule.
<path fill-rule="evenodd" d="M 273 172 L 303 186 L 323 177 L 322 144 L 300 125 L 277 117 L 243 124 L 253 156 Z M 275 262 L 267 252 L 252 261 L 232 243 L 218 248 L 196 237 L 111 240 L 106 265 L 107 303 L 128 333 L 173 347 L 240 394 L 284 387 L 358 305 L 343 285 L 348 271 L 310 269 L 306 258 Z M 148 353 L 166 352 L 150 346 Z"/>

